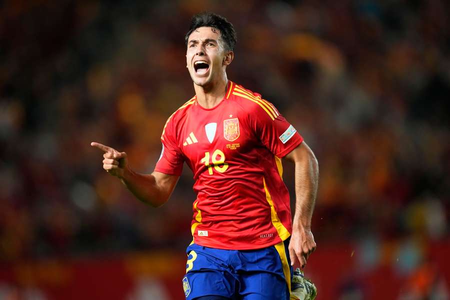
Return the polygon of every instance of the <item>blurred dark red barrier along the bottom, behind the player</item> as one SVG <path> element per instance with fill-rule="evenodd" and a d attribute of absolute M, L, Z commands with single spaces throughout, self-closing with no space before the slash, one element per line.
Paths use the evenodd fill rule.
<path fill-rule="evenodd" d="M 450 282 L 450 242 L 430 245 L 429 259 L 414 269 L 400 271 L 387 250 L 372 267 L 361 266 L 353 244 L 319 247 L 304 270 L 318 288 L 317 299 L 345 298 L 358 293 L 361 299 L 399 299 L 445 288 Z M 381 251 L 383 252 L 383 251 Z M 41 260 L 3 265 L 0 268 L 1 299 L 184 299 L 181 279 L 183 253 L 161 251 L 116 257 Z M 448 294 L 447 294 L 448 295 Z"/>

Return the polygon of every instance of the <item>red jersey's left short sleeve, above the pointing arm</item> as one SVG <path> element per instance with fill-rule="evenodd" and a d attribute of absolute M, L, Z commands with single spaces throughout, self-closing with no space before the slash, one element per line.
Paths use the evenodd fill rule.
<path fill-rule="evenodd" d="M 181 153 L 176 143 L 176 131 L 174 130 L 174 124 L 172 120 L 168 120 L 161 135 L 162 150 L 159 156 L 155 171 L 169 175 L 180 175 L 184 156 Z"/>

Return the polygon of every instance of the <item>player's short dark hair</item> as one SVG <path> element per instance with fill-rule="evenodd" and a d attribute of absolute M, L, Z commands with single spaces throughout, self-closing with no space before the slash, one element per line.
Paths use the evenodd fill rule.
<path fill-rule="evenodd" d="M 237 37 L 233 24 L 231 24 L 225 17 L 212 12 L 201 12 L 192 17 L 189 30 L 184 37 L 186 46 L 190 33 L 199 27 L 212 27 L 218 29 L 220 31 L 220 37 L 225 42 L 225 50 L 234 51 Z"/>

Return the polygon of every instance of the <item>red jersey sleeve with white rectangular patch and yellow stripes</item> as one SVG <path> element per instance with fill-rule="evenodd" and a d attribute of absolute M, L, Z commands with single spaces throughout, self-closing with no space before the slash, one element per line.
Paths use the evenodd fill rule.
<path fill-rule="evenodd" d="M 276 156 L 283 157 L 297 147 L 303 141 L 303 137 L 273 104 L 263 101 L 265 105 L 256 106 L 251 113 L 254 131 L 266 148 Z"/>

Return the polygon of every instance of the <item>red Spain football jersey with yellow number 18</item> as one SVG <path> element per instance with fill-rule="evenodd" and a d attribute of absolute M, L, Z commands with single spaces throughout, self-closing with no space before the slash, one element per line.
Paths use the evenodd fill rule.
<path fill-rule="evenodd" d="M 155 171 L 193 172 L 191 231 L 194 242 L 220 249 L 257 249 L 292 232 L 288 190 L 281 159 L 303 138 L 276 108 L 228 81 L 212 108 L 194 96 L 176 110 L 162 131 Z"/>

